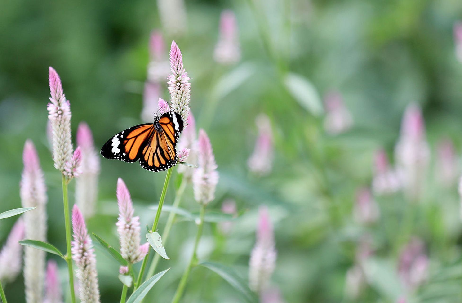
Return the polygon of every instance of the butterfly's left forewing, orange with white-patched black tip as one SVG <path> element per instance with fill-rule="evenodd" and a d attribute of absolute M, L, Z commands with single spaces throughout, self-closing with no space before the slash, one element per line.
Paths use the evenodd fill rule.
<path fill-rule="evenodd" d="M 152 123 L 144 123 L 127 128 L 109 139 L 101 148 L 101 155 L 108 159 L 118 159 L 125 162 L 136 162 L 140 150 L 146 146 L 153 132 Z"/>

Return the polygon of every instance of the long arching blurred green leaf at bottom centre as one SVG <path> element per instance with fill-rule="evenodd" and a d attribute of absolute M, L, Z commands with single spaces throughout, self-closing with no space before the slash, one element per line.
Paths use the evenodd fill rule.
<path fill-rule="evenodd" d="M 255 294 L 247 286 L 247 283 L 245 283 L 231 267 L 214 262 L 201 262 L 199 265 L 219 274 L 221 278 L 225 279 L 226 282 L 243 296 L 246 302 L 258 302 Z"/>

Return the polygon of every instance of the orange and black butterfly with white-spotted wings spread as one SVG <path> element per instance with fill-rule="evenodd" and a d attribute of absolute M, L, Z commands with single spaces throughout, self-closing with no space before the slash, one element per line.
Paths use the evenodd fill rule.
<path fill-rule="evenodd" d="M 127 128 L 109 139 L 101 155 L 129 163 L 140 161 L 145 170 L 161 171 L 176 164 L 176 143 L 183 130 L 181 115 L 174 111 L 154 116 L 153 123 Z"/>

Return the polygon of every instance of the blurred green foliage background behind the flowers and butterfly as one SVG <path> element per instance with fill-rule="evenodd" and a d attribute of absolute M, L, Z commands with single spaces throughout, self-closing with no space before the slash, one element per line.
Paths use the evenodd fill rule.
<path fill-rule="evenodd" d="M 231 65 L 213 59 L 224 9 L 236 15 L 242 52 Z M 32 139 L 48 188 L 48 239 L 65 250 L 61 177 L 46 133 L 48 67 L 60 74 L 71 102 L 74 138 L 78 123 L 86 121 L 98 149 L 114 133 L 141 123 L 150 34 L 160 30 L 165 60 L 172 40 L 182 50 L 192 78 L 191 110 L 198 127 L 207 131 L 219 166 L 216 199 L 208 209 L 219 211 L 224 200 L 233 199 L 240 214 L 225 236 L 217 224 L 206 225 L 201 259 L 225 263 L 247 279 L 258 208 L 266 205 L 278 252 L 271 285 L 280 290 L 282 302 L 396 302 L 400 297 L 461 302 L 457 182 L 440 182 L 436 151 L 440 140 L 450 139 L 458 159 L 462 145 L 462 62 L 453 33 L 462 19 L 462 2 L 193 0 L 186 1 L 185 16 L 177 10 L 162 16 L 154 0 L 2 4 L 0 211 L 20 207 L 22 149 Z M 185 27 L 173 29 L 172 22 Z M 344 131 L 326 131 L 323 100 L 329 91 L 340 93 L 351 113 L 353 125 Z M 160 95 L 168 99 L 166 80 Z M 353 216 L 358 190 L 371 187 L 377 149 L 383 148 L 394 164 L 409 103 L 423 110 L 430 146 L 423 191 L 413 202 L 402 191 L 374 194 L 380 217 L 360 224 Z M 252 174 L 247 166 L 257 137 L 255 117 L 261 113 L 268 115 L 274 139 L 273 166 L 265 176 Z M 164 175 L 102 158 L 97 214 L 87 221 L 90 232 L 117 247 L 118 177 L 132 194 L 141 226 L 152 224 L 155 212 L 148 206 L 157 204 Z M 174 199 L 174 183 L 166 204 Z M 199 209 L 191 186 L 182 207 Z M 0 222 L 0 243 L 15 219 Z M 171 270 L 147 302 L 170 301 L 195 231 L 193 222 L 174 225 L 166 247 L 171 260 L 158 267 Z M 415 269 L 425 279 L 409 288 L 398 269 L 413 237 L 423 243 L 427 263 L 424 270 Z M 364 238 L 371 252 L 363 262 L 357 251 Z M 118 265 L 95 247 L 102 301 L 118 302 Z M 351 269 L 358 263 L 361 273 L 355 275 Z M 65 263 L 58 265 L 66 287 Z M 5 286 L 9 302 L 24 302 L 23 283 L 19 276 Z M 195 268 L 182 302 L 243 299 L 215 273 Z"/>

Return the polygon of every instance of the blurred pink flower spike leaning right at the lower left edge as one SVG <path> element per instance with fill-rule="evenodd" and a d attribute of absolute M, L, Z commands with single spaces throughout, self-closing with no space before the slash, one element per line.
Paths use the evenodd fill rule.
<path fill-rule="evenodd" d="M 0 251 L 0 281 L 11 282 L 21 272 L 23 247 L 18 242 L 24 239 L 24 221 L 18 219 L 11 229 L 6 243 Z"/>

